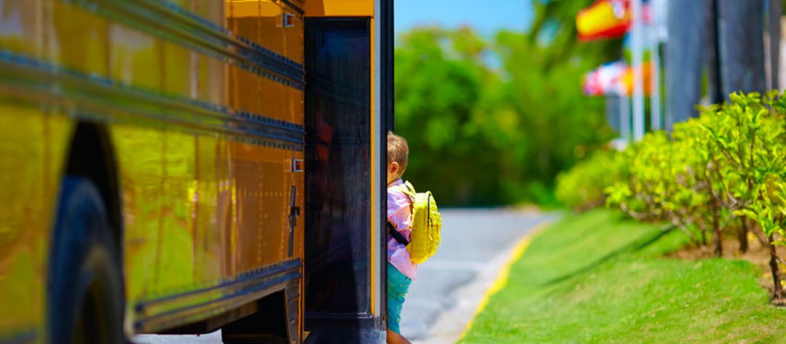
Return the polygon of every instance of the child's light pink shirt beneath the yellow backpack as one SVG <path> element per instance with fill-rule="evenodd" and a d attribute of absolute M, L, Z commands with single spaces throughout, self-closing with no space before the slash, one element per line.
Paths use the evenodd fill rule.
<path fill-rule="evenodd" d="M 410 225 L 412 224 L 412 200 L 401 190 L 404 182 L 395 179 L 387 186 L 387 220 L 393 223 L 406 240 L 410 240 Z M 417 264 L 412 263 L 410 252 L 404 244 L 387 234 L 387 261 L 406 277 L 417 277 Z"/>

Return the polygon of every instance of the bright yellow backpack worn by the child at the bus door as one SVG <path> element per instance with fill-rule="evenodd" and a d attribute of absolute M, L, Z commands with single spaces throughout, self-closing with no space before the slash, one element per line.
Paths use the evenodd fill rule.
<path fill-rule="evenodd" d="M 437 202 L 431 191 L 416 193 L 410 182 L 404 183 L 401 190 L 412 199 L 410 244 L 406 244 L 406 249 L 413 263 L 420 264 L 431 258 L 439 248 L 442 215 L 437 212 Z"/>

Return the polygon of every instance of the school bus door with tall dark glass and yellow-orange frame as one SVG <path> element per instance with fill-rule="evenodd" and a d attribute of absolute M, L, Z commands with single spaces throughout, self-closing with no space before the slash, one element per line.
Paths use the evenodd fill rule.
<path fill-rule="evenodd" d="M 375 104 L 387 101 L 380 74 L 392 68 L 378 68 L 380 6 L 341 3 L 305 6 L 305 327 L 308 342 L 384 342 L 384 139 L 392 118 L 385 109 L 392 107 Z"/>

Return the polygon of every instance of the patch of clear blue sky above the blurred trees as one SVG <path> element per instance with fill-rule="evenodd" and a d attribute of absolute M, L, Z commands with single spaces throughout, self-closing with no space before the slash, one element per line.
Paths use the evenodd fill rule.
<path fill-rule="evenodd" d="M 531 0 L 394 0 L 395 31 L 412 27 L 469 25 L 482 34 L 498 29 L 526 30 L 532 21 Z"/>

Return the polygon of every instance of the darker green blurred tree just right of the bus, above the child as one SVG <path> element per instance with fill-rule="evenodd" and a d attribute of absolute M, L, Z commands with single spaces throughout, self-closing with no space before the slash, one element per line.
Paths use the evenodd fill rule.
<path fill-rule="evenodd" d="M 474 109 L 481 86 L 494 83 L 469 29 L 416 29 L 395 51 L 396 129 L 410 145 L 407 177 L 446 205 L 489 205 L 498 150 L 479 135 Z M 482 173 L 481 173 L 482 171 Z"/>

